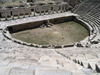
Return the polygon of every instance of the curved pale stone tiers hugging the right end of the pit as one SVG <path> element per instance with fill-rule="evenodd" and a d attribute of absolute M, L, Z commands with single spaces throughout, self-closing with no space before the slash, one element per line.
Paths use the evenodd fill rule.
<path fill-rule="evenodd" d="M 80 44 L 83 47 L 88 47 L 91 45 L 91 40 L 93 41 L 93 39 L 99 34 L 99 29 L 97 26 L 95 26 L 92 22 L 87 22 L 87 20 L 77 17 L 78 20 L 80 20 L 81 22 L 86 24 L 86 27 L 89 27 L 89 36 L 87 36 L 84 40 L 80 41 Z M 87 46 L 88 44 L 88 46 Z"/>

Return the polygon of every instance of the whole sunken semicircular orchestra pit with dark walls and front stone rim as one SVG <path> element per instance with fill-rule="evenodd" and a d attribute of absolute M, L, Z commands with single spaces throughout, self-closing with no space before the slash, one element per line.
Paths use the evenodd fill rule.
<path fill-rule="evenodd" d="M 73 47 L 90 34 L 89 27 L 75 16 L 37 20 L 7 26 L 7 29 L 11 37 L 4 35 L 12 41 L 39 48 Z"/>

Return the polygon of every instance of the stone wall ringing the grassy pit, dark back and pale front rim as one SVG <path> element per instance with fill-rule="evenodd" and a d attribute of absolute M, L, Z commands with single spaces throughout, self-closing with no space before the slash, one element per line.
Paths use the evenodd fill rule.
<path fill-rule="evenodd" d="M 76 21 L 76 22 L 80 23 L 81 25 L 83 25 L 84 27 L 86 27 L 89 31 L 91 30 L 88 27 L 87 24 L 85 24 L 83 21 L 79 20 L 76 16 L 60 17 L 60 18 L 54 18 L 54 19 L 48 19 L 48 20 L 50 22 L 52 22 L 53 24 L 57 24 L 57 23 L 61 23 L 61 22 L 67 22 L 67 21 Z M 20 31 L 20 30 L 39 27 L 40 25 L 42 25 L 44 23 L 44 21 L 47 21 L 47 20 L 36 21 L 36 22 L 20 24 L 20 25 L 14 25 L 14 26 L 11 26 L 11 27 L 9 26 L 8 30 L 10 32 L 17 32 L 17 31 Z M 34 44 L 34 43 L 26 43 L 26 42 L 23 42 L 21 40 L 9 37 L 7 35 L 6 29 L 3 30 L 3 34 L 9 40 L 12 40 L 12 41 L 14 41 L 14 42 L 16 42 L 18 44 L 27 45 L 27 46 L 31 46 L 31 47 L 37 47 L 37 48 L 66 48 L 66 47 L 73 47 L 73 46 L 78 46 L 78 47 L 81 46 L 81 43 L 77 43 L 77 45 L 75 45 L 74 43 L 73 44 L 69 44 L 69 45 L 68 44 L 65 44 L 65 45 L 38 45 L 38 44 Z"/>

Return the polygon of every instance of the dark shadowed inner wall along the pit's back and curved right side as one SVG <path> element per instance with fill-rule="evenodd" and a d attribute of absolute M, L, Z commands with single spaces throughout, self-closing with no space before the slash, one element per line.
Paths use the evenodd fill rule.
<path fill-rule="evenodd" d="M 49 20 L 49 22 L 51 22 L 53 24 L 63 23 L 63 22 L 68 22 L 68 21 L 76 21 L 77 23 L 83 25 L 88 31 L 91 31 L 90 28 L 88 27 L 88 25 L 86 25 L 84 22 L 78 20 L 74 16 L 59 17 L 59 18 L 53 18 L 53 19 L 47 19 L 47 20 Z M 8 29 L 11 33 L 26 30 L 26 29 L 32 29 L 35 27 L 39 27 L 40 25 L 44 24 L 44 21 L 47 21 L 47 20 L 40 20 L 40 21 L 36 21 L 36 22 L 13 25 L 13 26 L 9 26 Z"/>

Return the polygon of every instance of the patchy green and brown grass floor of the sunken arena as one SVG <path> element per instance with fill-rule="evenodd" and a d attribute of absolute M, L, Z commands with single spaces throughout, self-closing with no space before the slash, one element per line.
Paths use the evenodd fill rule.
<path fill-rule="evenodd" d="M 51 28 L 35 28 L 11 34 L 19 40 L 40 45 L 70 44 L 79 42 L 89 32 L 80 24 L 70 21 L 56 24 Z"/>

